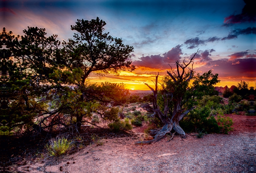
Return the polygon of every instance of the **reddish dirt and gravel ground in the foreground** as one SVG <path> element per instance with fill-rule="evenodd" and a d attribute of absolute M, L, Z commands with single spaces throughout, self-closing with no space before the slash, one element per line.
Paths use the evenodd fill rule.
<path fill-rule="evenodd" d="M 135 145 L 143 140 L 137 133 L 136 137 L 104 139 L 103 146 L 88 146 L 49 166 L 47 161 L 38 160 L 19 170 L 28 172 L 22 169 L 27 167 L 30 173 L 40 169 L 59 173 L 256 172 L 256 117 L 228 116 L 234 120 L 234 131 L 229 135 L 209 134 L 197 139 L 190 133 L 183 140 L 175 136 L 170 142 L 162 139 L 151 145 Z"/>

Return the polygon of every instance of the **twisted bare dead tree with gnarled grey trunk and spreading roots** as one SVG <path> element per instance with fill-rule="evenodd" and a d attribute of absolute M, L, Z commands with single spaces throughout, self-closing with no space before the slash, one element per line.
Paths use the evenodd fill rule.
<path fill-rule="evenodd" d="M 197 50 L 198 52 L 198 50 Z M 160 139 L 164 137 L 166 133 L 171 133 L 172 129 L 177 132 L 178 134 L 182 135 L 182 137 L 185 137 L 185 132 L 182 130 L 182 128 L 179 125 L 179 121 L 188 114 L 189 111 L 192 109 L 195 109 L 196 107 L 193 106 L 191 108 L 184 107 L 184 104 L 186 100 L 184 100 L 184 95 L 186 90 L 188 90 L 188 82 L 192 79 L 194 76 L 194 69 L 193 69 L 193 58 L 196 56 L 197 52 L 194 54 L 194 56 L 190 59 L 190 61 L 186 64 L 183 60 L 182 63 L 179 63 L 177 60 L 175 65 L 177 67 L 177 70 L 174 71 L 171 67 L 171 71 L 167 71 L 167 74 L 171 77 L 171 79 L 164 84 L 161 84 L 164 94 L 162 95 L 164 100 L 164 112 L 162 112 L 157 105 L 157 88 L 158 88 L 158 75 L 156 75 L 155 79 L 155 89 L 147 85 L 150 90 L 153 92 L 153 107 L 151 107 L 149 104 L 145 104 L 141 106 L 144 110 L 147 110 L 149 113 L 152 113 L 150 117 L 156 117 L 158 118 L 161 123 L 163 124 L 163 127 L 161 129 L 155 129 L 150 130 L 150 135 L 154 137 L 152 140 L 148 141 L 139 141 L 138 144 L 150 144 L 152 142 L 157 142 Z M 193 63 L 192 63 L 193 62 Z M 192 67 L 189 67 L 189 64 L 192 63 Z M 170 64 L 169 64 L 170 65 Z M 188 71 L 186 71 L 188 69 Z M 170 111 L 170 107 L 168 106 L 168 102 L 172 101 L 173 108 L 172 111 Z M 168 112 L 169 115 L 168 116 Z M 175 133 L 174 132 L 174 133 Z M 172 134 L 172 138 L 174 136 L 174 133 Z M 171 139 L 172 139 L 171 138 Z"/>

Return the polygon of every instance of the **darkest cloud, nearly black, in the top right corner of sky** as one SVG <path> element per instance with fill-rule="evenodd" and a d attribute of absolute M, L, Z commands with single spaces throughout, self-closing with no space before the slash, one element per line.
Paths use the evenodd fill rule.
<path fill-rule="evenodd" d="M 224 26 L 229 26 L 237 23 L 256 22 L 255 4 L 246 4 L 241 14 L 230 15 L 225 17 Z"/>

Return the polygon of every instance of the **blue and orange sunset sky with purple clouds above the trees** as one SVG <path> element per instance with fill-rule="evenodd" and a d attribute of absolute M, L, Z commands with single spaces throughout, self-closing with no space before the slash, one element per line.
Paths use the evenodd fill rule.
<path fill-rule="evenodd" d="M 245 4 L 245 2 L 247 4 Z M 250 0 L 0 0 L 0 27 L 22 35 L 27 26 L 45 28 L 59 40 L 73 38 L 77 19 L 99 17 L 105 31 L 133 46 L 136 70 L 119 76 L 90 76 L 91 82 L 123 82 L 148 90 L 175 60 L 194 58 L 196 73 L 219 74 L 217 86 L 256 81 L 256 11 Z"/>

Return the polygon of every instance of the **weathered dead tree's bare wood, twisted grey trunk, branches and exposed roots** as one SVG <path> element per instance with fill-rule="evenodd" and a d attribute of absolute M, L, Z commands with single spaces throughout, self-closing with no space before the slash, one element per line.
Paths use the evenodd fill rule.
<path fill-rule="evenodd" d="M 198 52 L 198 50 L 197 50 Z M 196 52 L 196 53 L 197 53 Z M 186 64 L 184 61 L 183 63 L 179 63 L 179 61 L 177 60 L 175 65 L 177 66 L 177 71 L 174 71 L 171 67 L 171 71 L 167 71 L 167 74 L 171 77 L 172 82 L 175 84 L 176 87 L 182 85 L 183 83 L 188 83 L 194 74 L 194 69 L 193 69 L 193 64 L 194 62 L 192 61 L 193 58 L 195 57 L 196 53 L 194 54 L 194 56 L 190 59 L 189 63 Z M 192 67 L 188 67 L 188 65 L 192 63 Z M 186 68 L 188 67 L 188 72 L 186 72 Z M 181 69 L 181 71 L 180 71 Z M 183 108 L 182 106 L 182 100 L 183 100 L 183 96 L 179 95 L 177 96 L 177 98 L 175 98 L 175 101 L 173 101 L 173 111 L 172 111 L 172 117 L 169 118 L 168 117 L 168 102 L 170 101 L 170 98 L 168 98 L 170 95 L 172 95 L 172 93 L 168 93 L 163 96 L 164 99 L 164 112 L 162 112 L 159 109 L 159 106 L 157 105 L 157 87 L 158 87 L 158 75 L 159 73 L 156 75 L 156 79 L 155 79 L 155 89 L 152 88 L 151 86 L 149 86 L 147 83 L 145 83 L 145 85 L 147 85 L 151 91 L 153 92 L 154 98 L 153 98 L 153 107 L 151 107 L 149 104 L 145 104 L 143 106 L 141 106 L 144 110 L 147 110 L 149 113 L 152 113 L 151 117 L 156 117 L 158 118 L 162 124 L 163 127 L 162 129 L 156 129 L 156 130 L 150 130 L 150 135 L 154 137 L 154 139 L 152 140 L 148 140 L 148 141 L 139 141 L 137 142 L 138 144 L 143 143 L 143 144 L 150 144 L 152 142 L 157 142 L 160 139 L 162 139 L 164 137 L 164 135 L 166 133 L 171 133 L 171 130 L 175 130 L 175 132 L 177 132 L 178 134 L 182 135 L 183 137 L 185 137 L 185 132 L 183 131 L 183 129 L 180 127 L 179 125 L 179 121 L 188 114 L 189 111 L 191 111 L 192 109 L 195 109 L 196 107 L 192 107 L 192 108 Z M 162 85 L 164 87 L 164 85 Z M 179 88 L 177 88 L 179 89 Z M 174 133 L 175 133 L 174 132 Z M 172 134 L 172 133 L 171 133 Z M 172 134 L 173 136 L 173 134 Z"/>

